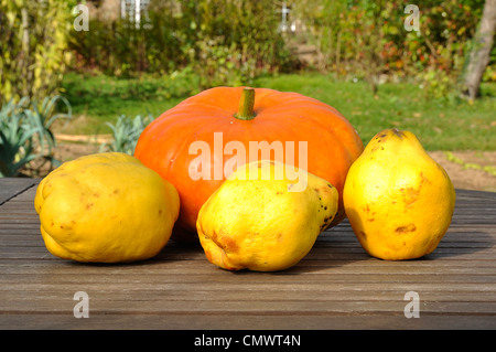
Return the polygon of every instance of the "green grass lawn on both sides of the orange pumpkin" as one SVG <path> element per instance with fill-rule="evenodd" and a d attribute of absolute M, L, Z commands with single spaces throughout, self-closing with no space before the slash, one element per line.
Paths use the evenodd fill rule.
<path fill-rule="evenodd" d="M 63 84 L 73 106 L 73 134 L 108 134 L 105 122 L 119 115 L 158 116 L 195 93 L 187 77 L 120 79 L 67 75 Z M 364 82 L 337 82 L 309 73 L 261 77 L 256 87 L 298 92 L 338 109 L 357 129 L 364 143 L 382 129 L 396 127 L 417 135 L 428 150 L 496 150 L 496 84 L 482 87 L 474 104 L 428 99 L 413 84 L 384 84 L 374 95 Z M 78 124 L 79 121 L 79 124 Z"/>

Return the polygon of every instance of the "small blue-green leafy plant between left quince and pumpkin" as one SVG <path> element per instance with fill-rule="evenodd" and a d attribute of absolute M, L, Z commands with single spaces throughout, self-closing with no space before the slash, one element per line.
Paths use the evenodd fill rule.
<path fill-rule="evenodd" d="M 150 114 L 147 117 L 138 115 L 133 119 L 121 115 L 117 118 L 115 125 L 107 122 L 107 126 L 112 130 L 112 140 L 101 143 L 100 151 L 118 151 L 132 156 L 138 138 L 152 120 L 153 116 Z"/>

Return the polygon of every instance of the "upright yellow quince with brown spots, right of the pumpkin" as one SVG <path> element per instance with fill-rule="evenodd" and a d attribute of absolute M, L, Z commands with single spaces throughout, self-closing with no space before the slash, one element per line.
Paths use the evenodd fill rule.
<path fill-rule="evenodd" d="M 412 132 L 387 129 L 352 164 L 343 199 L 364 249 L 401 260 L 438 247 L 452 221 L 455 191 Z"/>

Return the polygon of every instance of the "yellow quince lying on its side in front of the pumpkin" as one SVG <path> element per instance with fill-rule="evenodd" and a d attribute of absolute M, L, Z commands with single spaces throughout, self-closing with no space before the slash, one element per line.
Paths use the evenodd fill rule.
<path fill-rule="evenodd" d="M 298 264 L 337 212 L 337 191 L 273 161 L 238 168 L 204 203 L 196 227 L 207 259 L 224 269 L 276 271 Z"/>

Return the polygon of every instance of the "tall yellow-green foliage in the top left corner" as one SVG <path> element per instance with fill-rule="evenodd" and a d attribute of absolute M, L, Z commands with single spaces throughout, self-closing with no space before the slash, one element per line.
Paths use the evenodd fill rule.
<path fill-rule="evenodd" d="M 71 6 L 64 0 L 0 0 L 0 104 L 58 92 L 69 57 Z"/>

